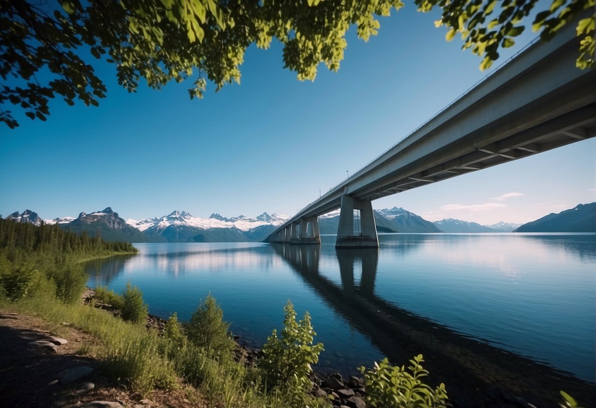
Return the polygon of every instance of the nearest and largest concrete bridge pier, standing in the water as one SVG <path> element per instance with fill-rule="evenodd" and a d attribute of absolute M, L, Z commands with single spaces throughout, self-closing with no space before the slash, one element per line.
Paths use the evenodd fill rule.
<path fill-rule="evenodd" d="M 360 210 L 360 233 L 354 231 L 354 210 Z M 369 247 L 378 247 L 373 204 L 371 200 L 357 200 L 344 194 L 342 196 L 342 209 L 339 214 L 336 248 Z"/>

